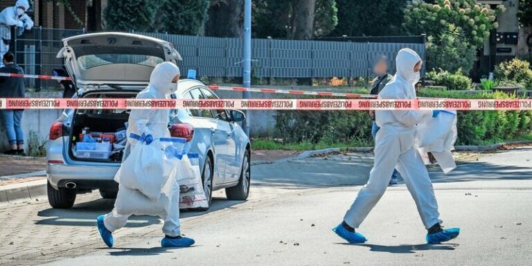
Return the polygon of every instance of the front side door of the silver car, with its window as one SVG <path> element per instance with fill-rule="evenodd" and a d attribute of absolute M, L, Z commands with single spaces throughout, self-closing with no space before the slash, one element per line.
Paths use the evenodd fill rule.
<path fill-rule="evenodd" d="M 209 89 L 202 88 L 202 92 L 208 99 L 218 99 L 218 96 Z M 215 109 L 212 112 L 217 122 L 220 136 L 224 136 L 225 138 L 226 152 L 223 155 L 226 163 L 224 170 L 225 182 L 238 181 L 240 177 L 240 163 L 237 162 L 238 147 L 234 138 L 234 125 L 231 123 L 229 113 L 225 109 Z"/>

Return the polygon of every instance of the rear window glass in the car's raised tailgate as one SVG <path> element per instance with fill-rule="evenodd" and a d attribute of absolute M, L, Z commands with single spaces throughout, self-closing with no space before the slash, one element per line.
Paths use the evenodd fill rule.
<path fill-rule="evenodd" d="M 78 64 L 82 69 L 100 67 L 105 64 L 141 64 L 155 67 L 164 60 L 152 55 L 100 54 L 82 55 L 78 57 Z"/>

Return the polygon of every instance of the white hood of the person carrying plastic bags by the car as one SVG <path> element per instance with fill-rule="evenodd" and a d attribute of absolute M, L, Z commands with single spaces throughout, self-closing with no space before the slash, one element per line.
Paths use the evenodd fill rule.
<path fill-rule="evenodd" d="M 168 96 L 177 91 L 177 84 L 172 83 L 172 79 L 180 75 L 179 67 L 170 62 L 158 64 L 150 76 L 150 87 L 157 93 Z"/>

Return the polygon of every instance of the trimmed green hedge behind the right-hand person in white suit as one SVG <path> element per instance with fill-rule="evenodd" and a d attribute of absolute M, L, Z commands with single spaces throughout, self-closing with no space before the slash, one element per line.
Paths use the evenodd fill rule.
<path fill-rule="evenodd" d="M 467 94 L 421 89 L 418 96 L 436 98 L 515 98 L 502 92 Z M 305 97 L 316 98 L 316 97 Z M 532 111 L 462 111 L 457 113 L 456 145 L 485 145 L 529 136 Z M 371 118 L 367 111 L 279 110 L 276 127 L 283 143 L 371 143 Z"/>

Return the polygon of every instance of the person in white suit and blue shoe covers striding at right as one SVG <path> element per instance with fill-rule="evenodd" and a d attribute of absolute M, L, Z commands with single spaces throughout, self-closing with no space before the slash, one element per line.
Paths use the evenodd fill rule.
<path fill-rule="evenodd" d="M 414 85 L 420 78 L 421 59 L 409 48 L 403 48 L 396 57 L 396 75 L 378 95 L 381 99 L 415 99 Z M 355 229 L 369 214 L 384 194 L 393 168 L 405 179 L 405 184 L 416 202 L 421 220 L 427 229 L 427 242 L 440 243 L 459 235 L 460 229 L 441 227 L 438 203 L 427 168 L 418 149 L 414 148 L 416 125 L 430 121 L 439 111 L 378 110 L 376 123 L 380 127 L 375 137 L 375 163 L 368 183 L 362 187 L 355 202 L 348 209 L 344 221 L 332 229 L 350 243 L 366 242 Z"/>

